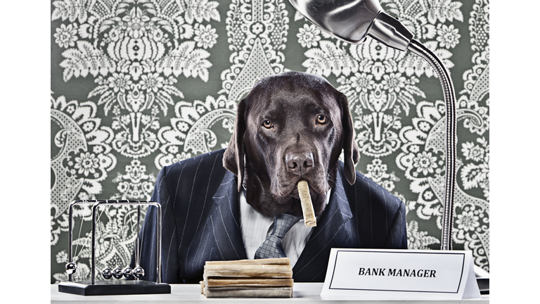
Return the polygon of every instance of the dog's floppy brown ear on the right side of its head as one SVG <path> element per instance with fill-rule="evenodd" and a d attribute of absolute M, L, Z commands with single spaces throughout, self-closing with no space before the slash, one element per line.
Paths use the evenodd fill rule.
<path fill-rule="evenodd" d="M 343 126 L 343 154 L 345 156 L 345 177 L 349 184 L 354 184 L 356 181 L 356 169 L 354 165 L 358 163 L 360 158 L 359 148 L 354 141 L 354 127 L 352 127 L 352 117 L 349 111 L 349 102 L 345 94 L 339 93 L 338 96 L 340 106 L 343 111 L 342 126 Z"/>

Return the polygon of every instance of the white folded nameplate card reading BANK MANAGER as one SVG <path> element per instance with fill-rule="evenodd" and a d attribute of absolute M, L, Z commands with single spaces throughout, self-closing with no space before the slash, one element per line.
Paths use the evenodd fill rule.
<path fill-rule="evenodd" d="M 323 299 L 480 298 L 470 251 L 332 248 Z"/>

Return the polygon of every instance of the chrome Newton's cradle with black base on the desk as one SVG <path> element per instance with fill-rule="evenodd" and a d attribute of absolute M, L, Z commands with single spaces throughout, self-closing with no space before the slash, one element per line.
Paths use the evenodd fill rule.
<path fill-rule="evenodd" d="M 93 204 L 92 206 L 92 231 L 91 231 L 91 280 L 73 281 L 72 274 L 77 271 L 73 261 L 73 207 L 78 204 Z M 137 229 L 135 241 L 136 267 L 131 269 L 129 266 L 120 270 L 105 268 L 101 272 L 105 281 L 96 281 L 96 222 L 98 220 L 98 207 L 101 205 L 136 205 L 137 206 Z M 144 270 L 139 266 L 139 230 L 141 223 L 141 205 L 154 206 L 157 212 L 157 246 L 156 246 L 156 281 L 145 281 L 140 279 L 144 275 Z M 81 223 L 82 224 L 82 223 Z M 72 201 L 69 207 L 69 248 L 68 264 L 65 266 L 69 275 L 69 281 L 58 284 L 58 291 L 63 293 L 73 293 L 81 296 L 105 296 L 105 295 L 125 295 L 125 294 L 150 294 L 150 293 L 171 293 L 171 286 L 161 281 L 161 205 L 151 201 L 132 201 L 132 200 L 84 200 Z M 111 279 L 115 277 L 115 279 Z M 126 279 L 122 279 L 125 277 Z"/>

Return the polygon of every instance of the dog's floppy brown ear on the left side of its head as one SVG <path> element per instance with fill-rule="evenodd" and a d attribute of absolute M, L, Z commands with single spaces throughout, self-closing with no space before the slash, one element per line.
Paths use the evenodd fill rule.
<path fill-rule="evenodd" d="M 244 133 L 245 133 L 245 99 L 238 103 L 234 130 L 229 146 L 223 155 L 223 166 L 238 177 L 238 192 L 242 189 L 244 177 Z"/>

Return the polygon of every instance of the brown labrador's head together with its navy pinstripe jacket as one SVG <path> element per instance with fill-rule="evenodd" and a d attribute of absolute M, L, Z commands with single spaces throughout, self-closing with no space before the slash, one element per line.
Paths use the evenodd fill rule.
<path fill-rule="evenodd" d="M 259 81 L 238 104 L 225 150 L 160 170 L 151 200 L 163 216 L 160 226 L 158 209 L 148 208 L 141 239 L 150 241 L 139 255 L 143 279 L 158 276 L 158 227 L 162 281 L 196 283 L 206 261 L 248 258 L 237 190 L 244 186 L 248 203 L 264 215 L 300 216 L 302 179 L 321 216 L 293 268 L 295 282 L 324 281 L 331 248 L 407 248 L 405 205 L 354 170 L 353 131 L 347 99 L 323 78 L 286 72 Z M 345 164 L 338 160 L 342 150 Z"/>

